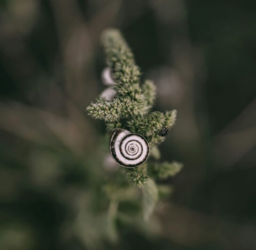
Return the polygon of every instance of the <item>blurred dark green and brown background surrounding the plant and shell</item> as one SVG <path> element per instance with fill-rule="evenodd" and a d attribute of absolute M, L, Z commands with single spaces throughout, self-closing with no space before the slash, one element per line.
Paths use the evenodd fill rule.
<path fill-rule="evenodd" d="M 178 110 L 160 150 L 185 166 L 151 224 L 103 202 L 108 135 L 85 108 L 107 27 Z M 250 0 L 1 0 L 0 249 L 256 249 L 255 30 Z"/>

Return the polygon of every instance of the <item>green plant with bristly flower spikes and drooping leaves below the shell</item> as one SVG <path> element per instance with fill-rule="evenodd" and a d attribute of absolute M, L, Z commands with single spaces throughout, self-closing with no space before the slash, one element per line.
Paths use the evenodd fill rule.
<path fill-rule="evenodd" d="M 176 175 L 183 167 L 183 164 L 176 161 L 160 163 L 152 160 L 160 159 L 158 145 L 164 141 L 165 135 L 174 126 L 177 111 L 150 112 L 156 99 L 156 86 L 150 80 L 146 80 L 140 86 L 140 69 L 118 30 L 104 31 L 102 43 L 107 66 L 115 82 L 111 88 L 116 91 L 116 95 L 110 101 L 99 96 L 95 103 L 87 107 L 87 112 L 95 119 L 104 120 L 109 132 L 121 128 L 143 135 L 148 140 L 151 158 L 137 168 L 120 167 L 115 179 L 112 177 L 112 180 L 106 183 L 105 191 L 112 201 L 129 199 L 125 198 L 130 188 L 125 184 L 124 176 L 128 177 L 128 183 L 143 187 L 141 209 L 143 218 L 147 220 L 159 196 L 156 181 Z M 123 172 L 126 172 L 126 175 Z"/>

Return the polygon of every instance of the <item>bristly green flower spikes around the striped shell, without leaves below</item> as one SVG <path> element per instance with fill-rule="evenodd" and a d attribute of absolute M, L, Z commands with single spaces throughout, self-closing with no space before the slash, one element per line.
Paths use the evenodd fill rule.
<path fill-rule="evenodd" d="M 156 99 L 156 86 L 152 81 L 146 80 L 140 87 L 140 69 L 135 64 L 131 49 L 118 30 L 104 31 L 102 43 L 107 65 L 115 81 L 113 89 L 116 91 L 116 96 L 111 101 L 99 97 L 96 103 L 87 107 L 87 112 L 95 119 L 105 120 L 108 131 L 122 128 L 143 135 L 153 151 L 151 156 L 157 159 L 159 158 L 157 146 L 165 139 L 159 133 L 163 128 L 170 129 L 174 126 L 177 111 L 150 112 Z M 149 171 L 147 166 L 150 166 Z M 149 165 L 144 163 L 142 167 L 126 171 L 134 185 L 143 187 L 148 182 L 148 174 L 153 173 L 153 178 L 167 178 L 174 176 L 181 168 L 182 164 L 178 162 L 175 162 L 175 165 L 151 162 Z"/>

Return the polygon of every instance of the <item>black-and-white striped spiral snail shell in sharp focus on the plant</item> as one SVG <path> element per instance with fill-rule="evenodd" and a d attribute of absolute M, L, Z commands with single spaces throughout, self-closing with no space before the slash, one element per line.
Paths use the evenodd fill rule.
<path fill-rule="evenodd" d="M 147 160 L 149 146 L 143 136 L 126 129 L 116 129 L 110 138 L 109 150 L 119 165 L 135 168 Z"/>

